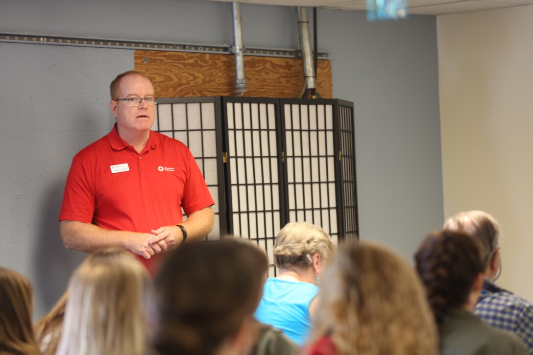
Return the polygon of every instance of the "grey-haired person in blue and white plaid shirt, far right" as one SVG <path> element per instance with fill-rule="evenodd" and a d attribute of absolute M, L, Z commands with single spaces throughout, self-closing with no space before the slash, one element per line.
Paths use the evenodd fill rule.
<path fill-rule="evenodd" d="M 450 217 L 444 229 L 463 230 L 481 243 L 484 282 L 474 314 L 493 327 L 516 334 L 533 354 L 533 304 L 494 284 L 501 271 L 498 221 L 482 211 L 461 212 Z"/>

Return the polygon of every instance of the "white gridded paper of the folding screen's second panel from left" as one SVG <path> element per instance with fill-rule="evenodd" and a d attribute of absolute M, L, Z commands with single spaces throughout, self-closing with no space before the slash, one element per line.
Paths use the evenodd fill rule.
<path fill-rule="evenodd" d="M 255 240 L 271 257 L 282 227 L 276 106 L 227 102 L 225 108 L 233 234 Z"/>

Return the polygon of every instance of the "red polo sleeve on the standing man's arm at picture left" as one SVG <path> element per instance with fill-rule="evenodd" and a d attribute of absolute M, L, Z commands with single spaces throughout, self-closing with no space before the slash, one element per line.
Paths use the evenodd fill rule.
<path fill-rule="evenodd" d="M 60 221 L 92 222 L 95 208 L 92 176 L 82 160 L 78 157 L 72 159 L 63 193 Z"/>

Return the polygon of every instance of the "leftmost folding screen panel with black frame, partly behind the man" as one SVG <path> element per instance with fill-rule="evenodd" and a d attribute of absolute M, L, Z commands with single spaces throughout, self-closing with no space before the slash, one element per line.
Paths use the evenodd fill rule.
<path fill-rule="evenodd" d="M 153 127 L 187 145 L 204 175 L 215 201 L 215 225 L 207 239 L 218 239 L 226 230 L 220 112 L 218 98 L 158 99 Z"/>

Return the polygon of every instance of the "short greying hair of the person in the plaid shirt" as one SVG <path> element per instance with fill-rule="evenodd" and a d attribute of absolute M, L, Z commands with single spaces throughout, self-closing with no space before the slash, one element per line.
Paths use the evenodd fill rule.
<path fill-rule="evenodd" d="M 477 239 L 481 248 L 481 260 L 487 268 L 499 246 L 500 227 L 494 217 L 483 211 L 461 212 L 450 217 L 444 223 L 443 229 L 463 230 Z"/>

